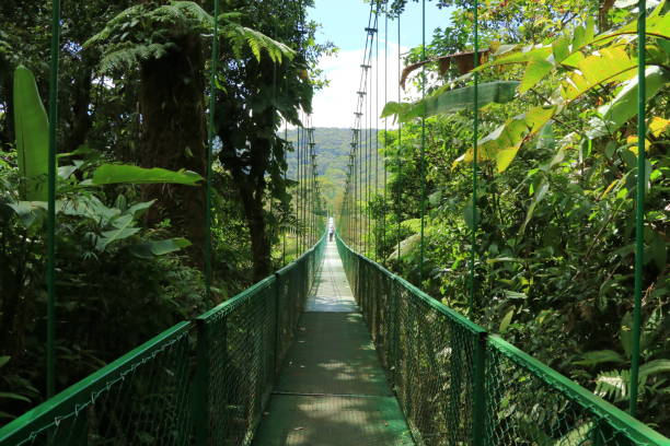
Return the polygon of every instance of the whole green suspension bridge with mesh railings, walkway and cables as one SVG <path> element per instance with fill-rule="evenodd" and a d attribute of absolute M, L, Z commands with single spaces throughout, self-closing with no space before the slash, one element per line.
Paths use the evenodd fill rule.
<path fill-rule="evenodd" d="M 371 2 L 365 27 L 335 239 L 328 240 L 325 222 L 313 212 L 319 191 L 308 126 L 298 143 L 297 169 L 296 214 L 308 227 L 298 242 L 303 254 L 4 425 L 0 446 L 670 445 L 631 414 L 359 253 L 370 251 L 374 225 L 359 203 L 385 187 L 386 160 L 380 164 L 379 133 L 372 132 L 379 109 L 367 99 L 373 94 L 382 4 Z M 474 11 L 476 24 L 476 2 Z M 58 27 L 57 12 L 54 23 Z M 400 17 L 397 23 L 400 39 Z M 476 43 L 475 25 L 475 66 Z M 213 47 L 216 60 L 216 38 Z M 379 91 L 374 94 L 379 98 Z M 475 148 L 476 98 L 475 87 Z M 475 153 L 474 191 L 476 161 Z M 50 208 L 53 202 L 51 190 Z M 421 207 L 423 262 L 425 200 Z"/>

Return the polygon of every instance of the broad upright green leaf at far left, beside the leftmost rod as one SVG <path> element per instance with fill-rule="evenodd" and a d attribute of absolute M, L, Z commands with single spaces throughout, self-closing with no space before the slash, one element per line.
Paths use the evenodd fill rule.
<path fill-rule="evenodd" d="M 31 70 L 16 67 L 13 87 L 20 196 L 27 201 L 46 201 L 49 149 L 47 114 Z"/>

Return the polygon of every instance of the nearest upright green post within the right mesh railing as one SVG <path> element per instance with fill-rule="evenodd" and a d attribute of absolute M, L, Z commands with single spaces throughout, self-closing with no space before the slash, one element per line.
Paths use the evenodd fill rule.
<path fill-rule="evenodd" d="M 486 338 L 488 333 L 481 331 L 474 339 L 473 386 L 472 386 L 472 433 L 473 446 L 488 446 L 486 430 Z"/>

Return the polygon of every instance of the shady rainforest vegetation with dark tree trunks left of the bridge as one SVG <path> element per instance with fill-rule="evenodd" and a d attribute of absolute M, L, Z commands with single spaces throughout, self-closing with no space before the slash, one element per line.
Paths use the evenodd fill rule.
<path fill-rule="evenodd" d="M 290 260 L 277 247 L 291 221 L 282 173 L 292 149 L 276 134 L 310 110 L 322 85 L 316 62 L 333 46 L 315 42 L 311 1 L 222 3 L 215 92 L 211 1 L 63 4 L 58 389 Z M 0 423 L 45 398 L 50 13 L 42 0 L 0 3 Z M 207 300 L 210 93 L 219 119 Z"/>

